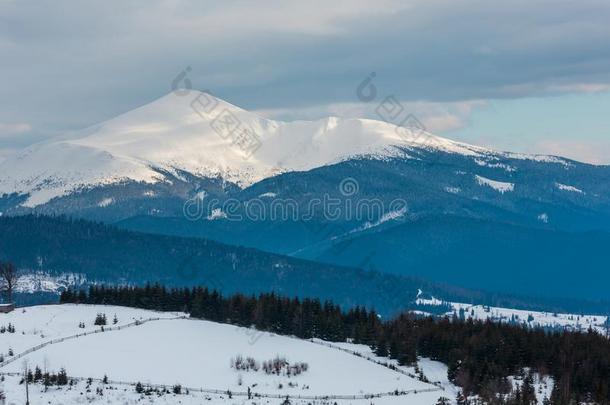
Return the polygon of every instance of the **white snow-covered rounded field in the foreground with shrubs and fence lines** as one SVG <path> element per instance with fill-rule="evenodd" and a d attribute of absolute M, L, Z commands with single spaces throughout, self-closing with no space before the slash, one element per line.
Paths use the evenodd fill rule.
<path fill-rule="evenodd" d="M 108 327 L 114 315 L 118 323 L 149 318 L 175 318 L 183 314 L 157 313 L 120 307 L 55 305 L 19 309 L 11 314 L 0 314 L 0 325 L 15 327 L 15 333 L 0 334 L 0 350 L 10 347 L 17 356 L 27 348 L 58 337 L 99 329 L 93 325 L 98 313 L 105 313 Z M 79 324 L 85 323 L 85 329 Z M 334 345 L 334 344 L 333 344 Z M 190 319 L 161 319 L 115 331 L 95 333 L 48 345 L 17 361 L 10 362 L 1 372 L 18 373 L 24 361 L 30 368 L 39 366 L 53 372 L 65 368 L 70 377 L 93 378 L 78 381 L 72 387 L 50 387 L 44 391 L 41 384 L 32 384 L 35 403 L 218 403 L 218 404 L 280 404 L 282 397 L 303 397 L 292 403 L 337 404 L 434 404 L 439 397 L 455 398 L 453 389 L 446 386 L 446 368 L 436 362 L 422 359 L 421 369 L 431 373 L 429 381 L 441 380 L 437 385 L 420 381 L 415 369 L 408 373 L 391 370 L 367 359 L 366 346 L 343 344 L 367 356 L 359 357 L 337 347 L 320 342 L 309 342 L 291 337 L 260 333 L 247 328 Z M 231 367 L 231 359 L 238 355 L 252 357 L 263 363 L 276 356 L 285 357 L 290 364 L 307 363 L 307 370 L 299 375 L 267 374 L 262 368 L 238 371 Z M 382 359 L 385 360 L 385 359 Z M 387 360 L 389 361 L 389 360 Z M 413 376 L 409 375 L 412 373 Z M 432 376 L 434 374 L 434 376 Z M 100 379 L 108 376 L 109 384 Z M 4 391 L 8 404 L 24 403 L 24 386 L 19 378 L 5 377 Z M 134 384 L 172 385 L 184 387 L 182 394 L 139 394 Z M 185 390 L 190 388 L 189 393 Z M 447 388 L 450 388 L 447 390 Z M 253 398 L 248 400 L 248 389 Z M 202 390 L 204 392 L 200 392 Z M 222 393 L 212 393 L 219 390 Z M 89 391 L 89 392 L 87 392 Z M 227 392 L 231 392 L 231 398 Z M 405 395 L 388 395 L 394 392 Z M 422 392 L 424 391 L 424 392 Z M 254 397 L 259 394 L 262 397 Z M 381 398 L 360 399 L 368 394 L 383 394 Z M 266 396 L 273 396 L 268 398 Z M 348 396 L 352 399 L 329 400 L 308 397 Z M 355 399 L 354 399 L 355 398 Z"/>

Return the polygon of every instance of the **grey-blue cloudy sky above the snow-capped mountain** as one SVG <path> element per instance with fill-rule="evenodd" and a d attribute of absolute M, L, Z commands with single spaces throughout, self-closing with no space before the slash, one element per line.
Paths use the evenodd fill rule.
<path fill-rule="evenodd" d="M 607 0 L 0 0 L 0 159 L 190 67 L 270 118 L 375 118 L 393 95 L 443 136 L 610 164 L 608 21 Z"/>

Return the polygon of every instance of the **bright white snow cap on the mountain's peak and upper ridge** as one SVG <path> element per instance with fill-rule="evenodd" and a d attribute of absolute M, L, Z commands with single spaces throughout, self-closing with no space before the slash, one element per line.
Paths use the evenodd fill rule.
<path fill-rule="evenodd" d="M 238 125 L 223 126 L 226 117 Z M 77 190 L 128 181 L 172 181 L 168 174 L 180 178 L 181 172 L 222 176 L 247 186 L 280 172 L 311 170 L 356 156 L 408 157 L 408 148 L 422 147 L 471 156 L 479 162 L 485 162 L 485 156 L 501 155 L 381 121 L 329 117 L 280 122 L 205 93 L 170 93 L 10 157 L 0 165 L 0 195 L 27 195 L 22 205 L 35 207 Z M 511 156 L 564 162 L 554 157 Z"/>

